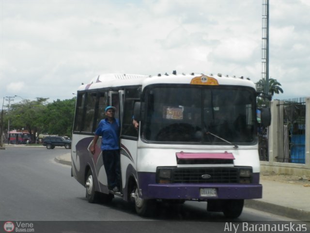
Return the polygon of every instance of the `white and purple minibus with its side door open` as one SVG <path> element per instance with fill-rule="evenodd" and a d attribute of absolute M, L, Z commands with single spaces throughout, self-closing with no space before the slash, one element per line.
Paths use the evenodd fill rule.
<path fill-rule="evenodd" d="M 207 211 L 240 216 L 245 199 L 262 198 L 255 84 L 222 75 L 103 74 L 78 88 L 72 176 L 89 202 L 114 195 L 140 216 L 158 201 L 207 201 Z M 104 109 L 121 122 L 121 190 L 108 189 L 100 140 L 90 152 Z M 133 126 L 133 116 L 140 123 Z M 261 110 L 270 124 L 270 110 Z"/>

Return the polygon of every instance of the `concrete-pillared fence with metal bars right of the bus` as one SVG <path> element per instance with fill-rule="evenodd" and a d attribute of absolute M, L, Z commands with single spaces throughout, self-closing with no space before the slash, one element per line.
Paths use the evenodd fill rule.
<path fill-rule="evenodd" d="M 268 131 L 259 135 L 262 170 L 310 175 L 310 98 L 273 100 Z"/>

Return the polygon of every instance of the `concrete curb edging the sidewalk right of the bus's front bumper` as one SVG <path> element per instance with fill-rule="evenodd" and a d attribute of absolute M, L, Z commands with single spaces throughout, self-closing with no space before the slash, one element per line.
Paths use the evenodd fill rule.
<path fill-rule="evenodd" d="M 285 207 L 262 200 L 245 200 L 245 207 L 301 221 L 309 221 L 310 216 L 309 211 Z"/>

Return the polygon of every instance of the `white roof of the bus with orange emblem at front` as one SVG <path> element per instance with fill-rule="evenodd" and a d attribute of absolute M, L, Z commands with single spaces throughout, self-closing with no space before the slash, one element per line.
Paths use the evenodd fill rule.
<path fill-rule="evenodd" d="M 222 76 L 221 74 L 165 74 L 157 76 L 139 75 L 139 74 L 101 74 L 94 77 L 90 83 L 82 84 L 78 91 L 99 89 L 105 87 L 141 85 L 144 88 L 150 84 L 158 83 L 187 83 L 201 85 L 241 85 L 256 89 L 255 84 L 249 79 L 243 77 Z"/>

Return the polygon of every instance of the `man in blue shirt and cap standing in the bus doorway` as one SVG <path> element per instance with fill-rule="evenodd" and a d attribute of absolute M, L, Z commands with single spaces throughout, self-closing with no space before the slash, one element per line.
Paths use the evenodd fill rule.
<path fill-rule="evenodd" d="M 106 169 L 109 190 L 119 192 L 120 189 L 120 122 L 114 118 L 116 108 L 108 106 L 105 109 L 107 118 L 102 119 L 95 131 L 91 152 L 94 154 L 99 136 L 102 136 L 101 150 L 103 164 Z"/>

